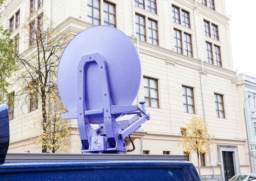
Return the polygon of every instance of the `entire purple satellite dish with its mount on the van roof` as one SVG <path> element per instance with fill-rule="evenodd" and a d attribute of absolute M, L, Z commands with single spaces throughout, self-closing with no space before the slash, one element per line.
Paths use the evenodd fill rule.
<path fill-rule="evenodd" d="M 108 26 L 81 31 L 65 48 L 58 90 L 76 118 L 81 152 L 123 152 L 124 139 L 150 118 L 144 102 L 131 105 L 141 80 L 137 49 L 123 32 Z"/>

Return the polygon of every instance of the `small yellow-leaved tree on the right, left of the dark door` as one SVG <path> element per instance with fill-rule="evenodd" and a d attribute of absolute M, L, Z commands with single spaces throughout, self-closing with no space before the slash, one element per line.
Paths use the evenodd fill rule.
<path fill-rule="evenodd" d="M 194 114 L 189 124 L 186 124 L 186 128 L 181 128 L 182 137 L 178 145 L 182 145 L 186 154 L 193 154 L 194 152 L 198 156 L 198 172 L 200 172 L 200 154 L 209 154 L 212 151 L 211 141 L 213 136 L 207 130 L 207 124 L 202 117 L 198 117 Z"/>

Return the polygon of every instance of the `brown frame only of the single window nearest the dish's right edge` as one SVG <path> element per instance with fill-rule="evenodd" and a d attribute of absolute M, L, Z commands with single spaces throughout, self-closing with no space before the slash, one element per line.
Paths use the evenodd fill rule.
<path fill-rule="evenodd" d="M 158 80 L 155 79 L 155 78 L 150 78 L 150 77 L 144 76 L 144 77 L 143 77 L 143 81 L 145 81 L 145 79 L 147 79 L 147 85 L 148 85 L 148 86 L 145 86 L 145 83 L 144 83 L 144 92 L 145 92 L 145 89 L 148 90 L 148 96 L 145 96 L 145 93 L 144 93 L 145 101 L 148 100 L 148 102 L 146 101 L 146 103 L 148 103 L 148 105 L 146 105 L 146 103 L 145 103 L 145 106 L 153 107 L 151 102 L 152 102 L 152 100 L 154 100 L 154 101 L 157 103 L 156 107 L 154 107 L 154 108 L 159 108 Z M 156 87 L 151 87 L 151 86 L 150 86 L 150 80 L 155 81 Z M 156 96 L 157 96 L 157 98 L 151 97 L 151 95 L 150 95 L 150 90 L 155 90 L 155 91 L 156 91 Z"/>

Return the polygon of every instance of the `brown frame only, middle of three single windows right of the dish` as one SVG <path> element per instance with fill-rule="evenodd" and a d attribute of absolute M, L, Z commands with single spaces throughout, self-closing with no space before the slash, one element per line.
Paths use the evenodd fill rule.
<path fill-rule="evenodd" d="M 188 89 L 190 90 L 192 95 L 187 94 Z M 185 92 L 183 90 L 185 90 Z M 185 98 L 186 102 L 184 102 L 184 98 Z M 192 104 L 189 104 L 188 98 L 192 99 Z M 195 96 L 194 96 L 193 87 L 188 87 L 188 86 L 182 85 L 182 99 L 183 99 L 183 111 L 186 112 L 186 113 L 195 114 Z M 186 111 L 185 111 L 184 106 L 186 106 Z M 189 107 L 192 108 L 192 112 L 189 112 L 189 110 L 190 110 Z"/>

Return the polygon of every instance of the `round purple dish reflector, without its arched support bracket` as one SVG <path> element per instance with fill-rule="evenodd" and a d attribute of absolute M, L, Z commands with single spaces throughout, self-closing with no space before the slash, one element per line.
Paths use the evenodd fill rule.
<path fill-rule="evenodd" d="M 141 65 L 130 38 L 113 27 L 90 27 L 70 41 L 58 66 L 58 91 L 70 112 L 77 110 L 79 62 L 82 56 L 95 53 L 106 61 L 112 105 L 130 105 L 137 95 Z M 97 63 L 90 63 L 84 71 L 86 107 L 88 110 L 100 109 L 104 103 Z"/>

